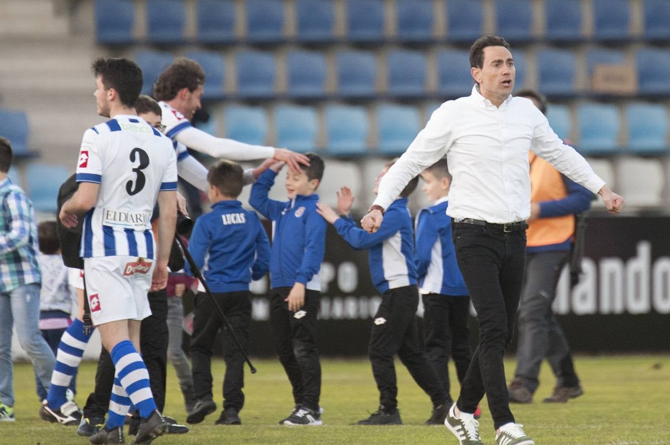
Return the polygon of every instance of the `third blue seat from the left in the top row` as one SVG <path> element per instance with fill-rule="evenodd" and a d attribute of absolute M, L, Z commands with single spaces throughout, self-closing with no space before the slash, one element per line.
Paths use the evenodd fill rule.
<path fill-rule="evenodd" d="M 235 41 L 235 1 L 198 0 L 198 42 L 232 43 Z"/>

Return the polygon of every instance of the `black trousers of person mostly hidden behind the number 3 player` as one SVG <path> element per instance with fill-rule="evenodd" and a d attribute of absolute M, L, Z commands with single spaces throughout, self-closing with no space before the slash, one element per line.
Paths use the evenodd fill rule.
<path fill-rule="evenodd" d="M 149 371 L 151 393 L 159 411 L 165 408 L 165 381 L 167 379 L 167 291 L 149 292 L 151 315 L 144 320 L 139 331 L 142 359 Z M 88 395 L 84 417 L 105 417 L 114 385 L 114 362 L 104 347 L 98 358 L 95 387 Z"/>

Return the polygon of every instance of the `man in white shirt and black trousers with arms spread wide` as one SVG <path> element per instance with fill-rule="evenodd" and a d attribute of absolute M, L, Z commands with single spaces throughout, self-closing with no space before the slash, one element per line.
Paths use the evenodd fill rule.
<path fill-rule="evenodd" d="M 526 98 L 513 98 L 515 68 L 502 37 L 480 37 L 470 48 L 472 94 L 433 112 L 403 156 L 389 169 L 361 224 L 375 232 L 383 212 L 410 179 L 447 156 L 453 175 L 447 214 L 458 266 L 477 310 L 479 346 L 458 402 L 445 425 L 460 444 L 482 444 L 473 414 L 486 393 L 496 444 L 533 444 L 509 410 L 502 356 L 509 343 L 523 280 L 530 216 L 528 153 L 532 150 L 567 177 L 602 197 L 611 213 L 624 199 L 605 186 L 572 147 L 563 145 L 547 118 Z"/>

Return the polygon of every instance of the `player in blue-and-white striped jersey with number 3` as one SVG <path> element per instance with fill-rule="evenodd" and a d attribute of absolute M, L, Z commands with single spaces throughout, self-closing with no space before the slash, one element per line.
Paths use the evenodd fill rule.
<path fill-rule="evenodd" d="M 147 292 L 167 284 L 177 213 L 176 154 L 169 139 L 135 112 L 139 67 L 125 59 L 98 59 L 93 71 L 98 114 L 111 119 L 84 132 L 80 186 L 60 212 L 66 227 L 76 226 L 85 213 L 81 255 L 91 319 L 116 370 L 107 424 L 90 440 L 122 442 L 133 404 L 142 418 L 135 443 L 145 443 L 167 429 L 138 350 L 140 322 L 151 313 Z M 156 201 L 158 243 L 149 222 Z"/>

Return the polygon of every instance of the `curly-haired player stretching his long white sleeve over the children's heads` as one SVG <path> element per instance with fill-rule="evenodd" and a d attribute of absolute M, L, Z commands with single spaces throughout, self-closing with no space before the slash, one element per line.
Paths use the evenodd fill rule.
<path fill-rule="evenodd" d="M 215 158 L 232 161 L 271 158 L 259 169 L 245 171 L 247 184 L 255 181 L 273 161 L 283 161 L 295 171 L 299 171 L 298 164 L 309 165 L 305 155 L 287 149 L 249 145 L 232 139 L 214 137 L 192 126 L 190 119 L 196 110 L 201 108 L 200 99 L 204 83 L 205 74 L 198 62 L 188 58 L 177 58 L 165 68 L 153 86 L 153 96 L 159 101 L 163 111 L 161 123 L 165 125 L 165 135 L 175 144 L 180 177 L 202 191 L 209 189 L 207 169 L 188 155 L 186 147 Z"/>

